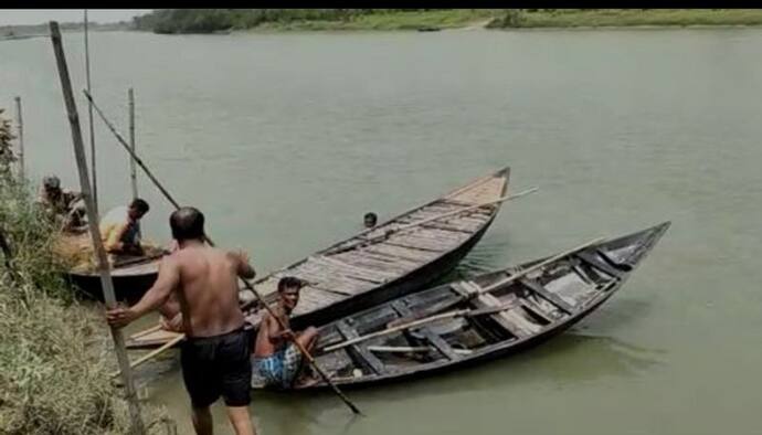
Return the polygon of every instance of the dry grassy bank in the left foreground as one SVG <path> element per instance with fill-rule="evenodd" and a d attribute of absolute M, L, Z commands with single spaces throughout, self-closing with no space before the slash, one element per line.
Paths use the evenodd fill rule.
<path fill-rule="evenodd" d="M 110 382 L 115 356 L 99 310 L 77 303 L 51 252 L 54 229 L 12 163 L 0 121 L 0 434 L 126 434 Z M 3 144 L 6 141 L 6 144 Z M 9 255 L 10 254 L 10 255 Z M 151 433 L 167 433 L 144 409 Z"/>

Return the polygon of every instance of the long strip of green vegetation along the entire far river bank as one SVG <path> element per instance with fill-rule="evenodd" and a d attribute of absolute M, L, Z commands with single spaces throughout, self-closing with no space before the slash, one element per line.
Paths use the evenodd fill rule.
<path fill-rule="evenodd" d="M 157 33 L 756 24 L 758 9 L 167 9 L 133 22 Z"/>

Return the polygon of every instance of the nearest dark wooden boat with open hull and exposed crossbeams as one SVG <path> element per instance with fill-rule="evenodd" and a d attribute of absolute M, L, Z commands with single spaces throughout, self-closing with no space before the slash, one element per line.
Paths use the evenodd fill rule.
<path fill-rule="evenodd" d="M 314 354 L 334 382 L 356 386 L 523 350 L 608 299 L 669 224 L 380 304 L 320 328 Z M 252 386 L 263 388 L 256 372 Z"/>

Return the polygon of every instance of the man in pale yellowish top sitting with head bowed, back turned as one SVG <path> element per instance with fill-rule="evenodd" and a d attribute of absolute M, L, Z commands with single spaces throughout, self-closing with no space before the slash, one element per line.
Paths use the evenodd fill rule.
<path fill-rule="evenodd" d="M 144 254 L 140 245 L 140 219 L 148 210 L 148 203 L 136 198 L 129 206 L 117 206 L 106 213 L 100 220 L 100 238 L 109 254 Z"/>

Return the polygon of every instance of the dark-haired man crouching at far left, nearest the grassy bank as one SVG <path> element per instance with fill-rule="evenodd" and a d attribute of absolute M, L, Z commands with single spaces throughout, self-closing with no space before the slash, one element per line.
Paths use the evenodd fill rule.
<path fill-rule="evenodd" d="M 63 231 L 82 232 L 87 225 L 82 193 L 61 189 L 61 180 L 56 176 L 42 179 L 36 202 L 61 224 Z"/>

